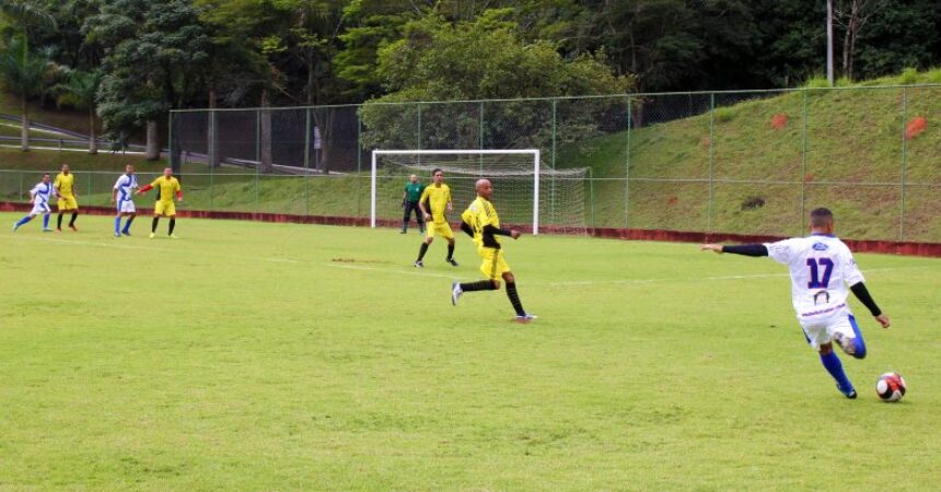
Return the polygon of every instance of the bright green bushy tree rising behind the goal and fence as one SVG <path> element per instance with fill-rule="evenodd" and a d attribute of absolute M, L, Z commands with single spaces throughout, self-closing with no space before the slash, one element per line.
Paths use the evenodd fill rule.
<path fill-rule="evenodd" d="M 368 145 L 474 149 L 485 139 L 501 147 L 547 145 L 551 105 L 507 102 L 487 106 L 486 134 L 479 133 L 478 104 L 437 104 L 422 114 L 430 128 L 416 141 L 416 101 L 551 97 L 620 94 L 632 79 L 617 77 L 604 55 L 567 60 L 546 42 L 525 43 L 509 10 L 488 10 L 473 21 L 451 22 L 429 14 L 405 26 L 404 37 L 380 51 L 379 73 L 390 94 L 361 109 Z M 614 99 L 580 102 L 557 121 L 572 139 L 596 130 L 597 115 Z M 614 104 L 621 104 L 618 101 Z M 433 110 L 432 110 L 433 109 Z M 621 107 L 623 109 L 623 107 Z"/>

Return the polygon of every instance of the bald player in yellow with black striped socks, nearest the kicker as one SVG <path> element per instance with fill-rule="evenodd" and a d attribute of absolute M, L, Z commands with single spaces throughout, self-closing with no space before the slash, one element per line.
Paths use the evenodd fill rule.
<path fill-rule="evenodd" d="M 477 254 L 480 255 L 480 271 L 487 277 L 487 280 L 479 282 L 451 284 L 451 303 L 457 305 L 457 300 L 465 292 L 473 291 L 496 291 L 500 289 L 500 279 L 507 282 L 507 297 L 510 297 L 510 304 L 516 312 L 516 320 L 520 323 L 528 323 L 535 319 L 536 316 L 531 315 L 523 309 L 523 304 L 520 302 L 520 295 L 516 293 L 516 278 L 510 271 L 510 266 L 503 259 L 503 249 L 500 247 L 500 239 L 496 236 L 510 236 L 512 238 L 520 237 L 520 231 L 500 229 L 500 215 L 490 202 L 490 196 L 493 194 L 493 188 L 487 179 L 480 179 L 476 183 L 477 199 L 471 202 L 471 206 L 464 213 L 461 214 L 461 230 L 467 233 L 477 245 Z"/>

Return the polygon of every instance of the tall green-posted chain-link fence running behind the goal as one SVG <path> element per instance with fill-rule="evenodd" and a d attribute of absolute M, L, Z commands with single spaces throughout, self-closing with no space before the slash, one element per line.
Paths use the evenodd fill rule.
<path fill-rule="evenodd" d="M 941 85 L 178 110 L 171 159 L 190 209 L 367 218 L 375 149 L 539 149 L 591 168 L 586 227 L 798 235 L 828 207 L 845 237 L 941 243 L 939 124 Z M 0 194 L 35 180 L 0 173 Z"/>

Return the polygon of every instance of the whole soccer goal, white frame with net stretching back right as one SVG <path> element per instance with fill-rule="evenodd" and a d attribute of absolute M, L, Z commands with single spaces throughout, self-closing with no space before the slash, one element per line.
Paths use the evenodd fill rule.
<path fill-rule="evenodd" d="M 374 150 L 372 152 L 371 225 L 377 220 L 402 220 L 402 196 L 410 175 L 426 186 L 432 171 L 444 172 L 457 222 L 476 198 L 474 184 L 487 178 L 493 185 L 493 204 L 500 222 L 532 229 L 583 234 L 588 168 L 551 169 L 538 150 Z"/>

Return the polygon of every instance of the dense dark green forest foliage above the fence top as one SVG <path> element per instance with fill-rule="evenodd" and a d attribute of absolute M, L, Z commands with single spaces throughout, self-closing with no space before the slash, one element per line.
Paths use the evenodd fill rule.
<path fill-rule="evenodd" d="M 941 1 L 833 2 L 838 77 L 941 61 Z M 178 107 L 781 87 L 826 58 L 826 0 L 0 0 L 0 13 L 11 59 L 47 62 L 28 90 L 15 67 L 0 73 L 7 89 L 91 103 L 121 141 L 155 140 Z M 74 72 L 100 74 L 94 101 Z"/>

